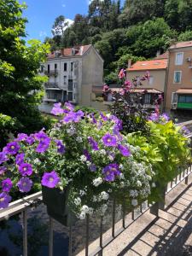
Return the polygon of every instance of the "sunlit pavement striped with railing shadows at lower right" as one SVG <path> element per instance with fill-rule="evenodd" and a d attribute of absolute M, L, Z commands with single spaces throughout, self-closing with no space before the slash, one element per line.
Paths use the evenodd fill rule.
<path fill-rule="evenodd" d="M 166 196 L 165 211 L 160 217 L 149 211 L 144 213 L 131 226 L 122 232 L 108 247 L 103 256 L 189 256 L 192 255 L 192 175 L 189 187 L 181 183 Z M 177 197 L 177 195 L 180 196 Z M 121 222 L 116 224 L 120 226 Z M 111 230 L 105 236 L 111 234 Z M 109 235 L 110 236 L 110 235 Z M 90 244 L 91 249 L 98 241 Z M 83 256 L 84 251 L 78 254 Z"/>

